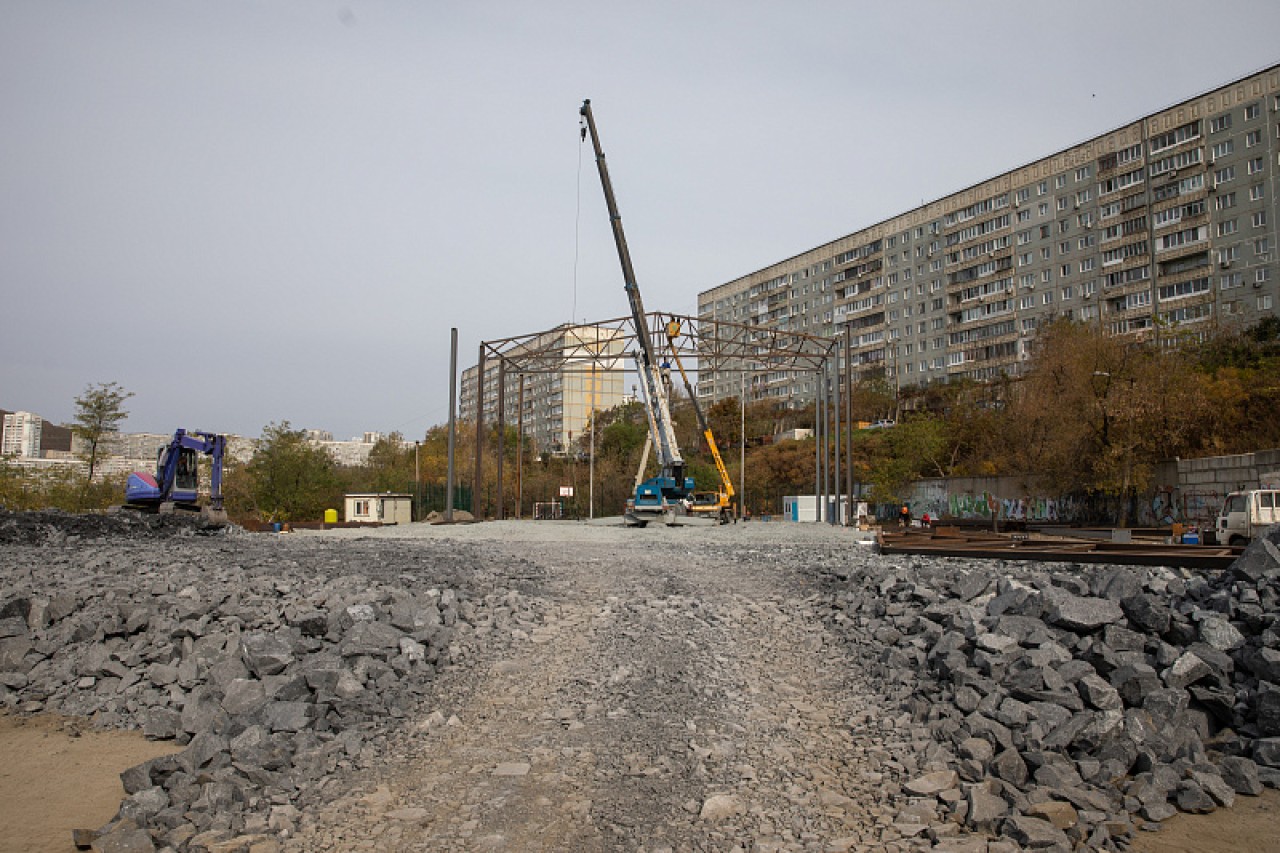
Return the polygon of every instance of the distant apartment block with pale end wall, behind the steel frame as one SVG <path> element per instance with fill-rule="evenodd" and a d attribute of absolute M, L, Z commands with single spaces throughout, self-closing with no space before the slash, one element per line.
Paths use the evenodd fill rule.
<path fill-rule="evenodd" d="M 485 423 L 497 421 L 500 371 L 506 386 L 503 418 L 507 425 L 515 428 L 522 424 L 535 455 L 571 452 L 573 443 L 585 433 L 591 411 L 604 411 L 625 402 L 623 347 L 625 338 L 617 329 L 562 325 L 504 352 L 511 365 L 520 362 L 526 370 L 515 366 L 503 369 L 502 360 L 486 359 Z M 532 366 L 534 362 L 538 366 Z M 462 371 L 458 414 L 463 419 L 475 420 L 479 375 L 479 365 Z"/>

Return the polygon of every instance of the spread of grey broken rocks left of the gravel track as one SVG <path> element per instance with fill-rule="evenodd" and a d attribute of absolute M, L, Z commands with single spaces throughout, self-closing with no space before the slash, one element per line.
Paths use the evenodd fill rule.
<path fill-rule="evenodd" d="M 191 533 L 0 519 L 0 706 L 184 744 L 123 774 L 128 798 L 77 834 L 86 847 L 275 849 L 406 719 L 443 722 L 417 713 L 438 671 L 540 619 L 535 598 L 485 587 L 467 546 Z"/>

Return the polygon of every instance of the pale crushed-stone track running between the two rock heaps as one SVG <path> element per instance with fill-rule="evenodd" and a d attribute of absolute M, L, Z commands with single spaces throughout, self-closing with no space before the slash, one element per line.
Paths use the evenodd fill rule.
<path fill-rule="evenodd" d="M 746 571 L 662 540 L 640 552 L 507 547 L 548 573 L 554 611 L 296 849 L 881 839 L 881 729 L 863 725 L 854 669 L 827 644 L 792 567 Z"/>

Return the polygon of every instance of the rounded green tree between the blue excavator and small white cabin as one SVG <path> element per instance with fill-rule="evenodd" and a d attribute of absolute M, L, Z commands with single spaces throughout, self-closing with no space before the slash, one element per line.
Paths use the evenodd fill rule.
<path fill-rule="evenodd" d="M 243 471 L 248 497 L 264 520 L 319 519 L 342 500 L 333 456 L 287 420 L 262 428 L 257 452 Z"/>

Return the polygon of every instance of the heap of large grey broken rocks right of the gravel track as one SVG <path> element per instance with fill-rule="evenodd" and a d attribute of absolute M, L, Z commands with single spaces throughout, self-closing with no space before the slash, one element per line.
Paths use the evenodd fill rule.
<path fill-rule="evenodd" d="M 829 624 L 931 735 L 899 826 L 1117 849 L 1144 824 L 1280 786 L 1277 544 L 1272 528 L 1212 575 L 928 558 L 823 569 Z"/>

